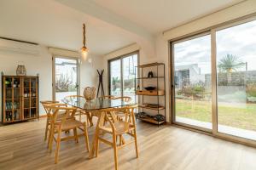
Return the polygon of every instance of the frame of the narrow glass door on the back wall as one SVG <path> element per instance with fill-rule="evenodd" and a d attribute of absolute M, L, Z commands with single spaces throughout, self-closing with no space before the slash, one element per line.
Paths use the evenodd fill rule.
<path fill-rule="evenodd" d="M 67 57 L 67 56 L 61 56 L 61 55 L 53 55 L 52 56 L 52 99 L 55 100 L 55 59 L 73 59 L 77 61 L 77 83 L 79 85 L 79 88 L 77 88 L 77 95 L 80 95 L 80 62 L 78 57 Z"/>

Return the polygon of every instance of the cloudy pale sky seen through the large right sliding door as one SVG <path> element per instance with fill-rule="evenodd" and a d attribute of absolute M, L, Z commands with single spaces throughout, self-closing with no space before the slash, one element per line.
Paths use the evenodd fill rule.
<path fill-rule="evenodd" d="M 233 54 L 247 62 L 248 71 L 256 70 L 256 20 L 217 31 L 216 43 L 217 62 Z M 201 74 L 211 73 L 210 35 L 174 44 L 174 56 L 175 65 L 198 64 Z"/>

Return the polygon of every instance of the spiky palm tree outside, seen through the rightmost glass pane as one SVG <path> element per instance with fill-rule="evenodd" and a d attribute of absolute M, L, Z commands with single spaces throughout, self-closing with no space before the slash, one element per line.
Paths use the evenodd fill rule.
<path fill-rule="evenodd" d="M 218 61 L 219 71 L 224 71 L 227 73 L 236 71 L 242 65 L 244 65 L 244 63 L 241 62 L 241 59 L 239 59 L 239 57 L 237 57 L 236 55 L 232 54 L 227 54 L 226 56 L 224 56 L 224 58 Z"/>

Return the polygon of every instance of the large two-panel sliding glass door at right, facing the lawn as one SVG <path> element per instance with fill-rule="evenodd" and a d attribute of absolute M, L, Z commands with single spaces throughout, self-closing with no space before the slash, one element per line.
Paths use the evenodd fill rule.
<path fill-rule="evenodd" d="M 256 145 L 256 18 L 172 42 L 172 118 Z"/>

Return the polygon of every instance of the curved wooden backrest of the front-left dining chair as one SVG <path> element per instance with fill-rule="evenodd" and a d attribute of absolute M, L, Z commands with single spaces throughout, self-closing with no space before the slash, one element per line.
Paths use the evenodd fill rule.
<path fill-rule="evenodd" d="M 67 107 L 66 104 L 46 104 L 45 108 L 48 111 L 48 115 L 51 116 L 52 123 L 64 123 L 67 118 L 70 119 L 71 117 L 74 117 L 77 111 L 77 108 Z M 61 119 L 57 119 L 57 116 L 60 114 L 62 115 Z"/>

